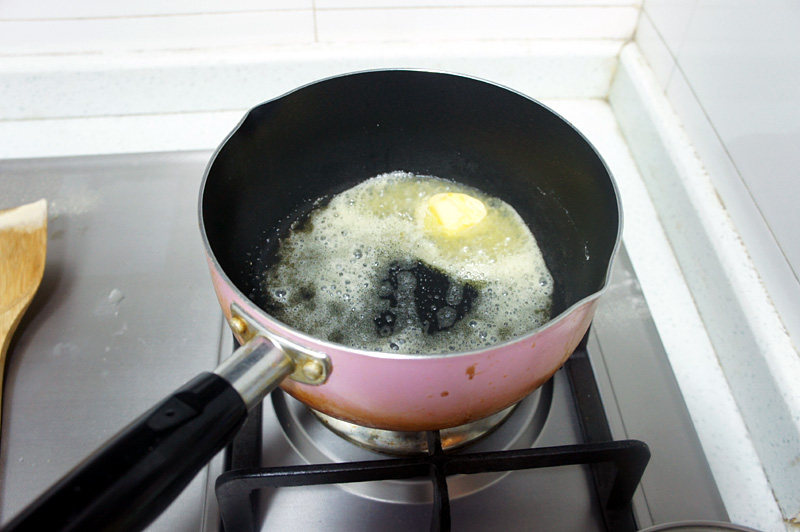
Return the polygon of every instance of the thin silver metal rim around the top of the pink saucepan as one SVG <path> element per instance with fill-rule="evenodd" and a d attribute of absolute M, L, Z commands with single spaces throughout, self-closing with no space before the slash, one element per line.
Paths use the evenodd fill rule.
<path fill-rule="evenodd" d="M 512 93 L 517 94 L 519 96 L 522 96 L 523 98 L 525 98 L 527 100 L 530 100 L 531 102 L 543 107 L 544 109 L 546 109 L 547 111 L 549 111 L 550 113 L 552 113 L 553 115 L 555 115 L 556 117 L 561 119 L 569 127 L 571 127 L 573 129 L 573 131 L 575 131 L 583 139 L 583 141 L 586 142 L 586 144 L 589 146 L 589 148 L 591 148 L 591 150 L 595 153 L 597 158 L 600 160 L 600 163 L 603 165 L 603 168 L 605 168 L 606 173 L 608 174 L 608 178 L 609 178 L 609 180 L 611 182 L 611 187 L 612 187 L 612 189 L 614 191 L 614 199 L 616 200 L 616 203 L 617 203 L 617 213 L 618 213 L 618 219 L 619 219 L 619 222 L 617 224 L 617 236 L 616 236 L 615 241 L 614 241 L 614 247 L 611 250 L 611 256 L 609 257 L 608 263 L 606 265 L 606 274 L 605 274 L 605 277 L 603 279 L 603 285 L 600 287 L 600 289 L 595 291 L 595 292 L 593 292 L 593 293 L 591 293 L 591 294 L 589 294 L 588 296 L 584 297 L 583 299 L 580 299 L 579 301 L 576 301 L 570 307 L 568 307 L 567 309 L 562 311 L 558 316 L 548 320 L 543 325 L 540 325 L 539 327 L 533 329 L 532 331 L 530 331 L 530 332 L 528 332 L 528 333 L 526 333 L 526 334 L 524 334 L 522 336 L 517 336 L 517 337 L 512 338 L 510 340 L 506 340 L 505 342 L 494 344 L 494 345 L 489 346 L 489 347 L 483 347 L 481 349 L 475 349 L 475 350 L 472 350 L 472 351 L 456 351 L 456 352 L 450 352 L 450 353 L 435 353 L 435 354 L 388 353 L 388 352 L 384 352 L 384 351 L 370 351 L 370 350 L 366 350 L 366 349 L 358 349 L 358 348 L 355 348 L 355 347 L 349 347 L 349 346 L 346 346 L 346 345 L 343 345 L 343 344 L 337 344 L 337 343 L 334 343 L 334 342 L 330 342 L 328 340 L 322 340 L 321 338 L 317 338 L 317 337 L 315 337 L 315 336 L 313 336 L 311 334 L 305 333 L 305 332 L 303 332 L 303 331 L 301 331 L 299 329 L 291 327 L 291 326 L 283 323 L 282 321 L 274 318 L 270 314 L 266 313 L 261 307 L 259 307 L 255 303 L 253 303 L 250 300 L 249 297 L 244 295 L 242 293 L 242 291 L 239 290 L 239 287 L 236 286 L 236 284 L 233 281 L 231 281 L 231 279 L 225 273 L 225 270 L 222 268 L 222 266 L 217 261 L 217 257 L 214 255 L 214 252 L 211 249 L 211 244 L 208 241 L 208 235 L 206 234 L 205 223 L 203 221 L 203 197 L 205 195 L 205 190 L 206 190 L 206 181 L 208 180 L 209 172 L 211 170 L 211 167 L 214 165 L 214 162 L 216 161 L 217 156 L 219 155 L 219 153 L 222 150 L 222 148 L 225 147 L 225 145 L 228 143 L 228 141 L 239 131 L 239 129 L 242 127 L 242 125 L 247 121 L 247 119 L 250 117 L 251 112 L 254 109 L 256 109 L 258 107 L 261 107 L 263 105 L 267 105 L 267 104 L 276 102 L 278 100 L 281 100 L 281 99 L 285 98 L 286 96 L 289 96 L 290 94 L 293 94 L 295 92 L 299 92 L 299 91 L 301 91 L 301 90 L 303 90 L 303 89 L 305 89 L 307 87 L 310 87 L 312 85 L 317 85 L 319 83 L 324 83 L 326 81 L 330 81 L 330 80 L 337 79 L 337 78 L 360 75 L 360 74 L 369 74 L 369 73 L 375 73 L 375 72 L 421 72 L 421 73 L 429 73 L 429 74 L 440 74 L 440 75 L 445 75 L 445 76 L 454 76 L 454 77 L 460 77 L 460 78 L 465 78 L 465 79 L 471 79 L 471 80 L 474 80 L 474 81 L 479 81 L 479 82 L 486 83 L 488 85 L 493 85 L 493 86 L 495 86 L 497 88 L 512 92 Z M 234 291 L 234 293 L 236 295 L 241 297 L 243 301 L 246 301 L 247 303 L 249 303 L 253 307 L 253 309 L 257 312 L 257 315 L 253 316 L 253 318 L 255 320 L 257 320 L 258 322 L 260 322 L 261 324 L 263 324 L 264 328 L 266 328 L 268 330 L 281 329 L 281 330 L 287 331 L 287 332 L 291 333 L 293 336 L 295 336 L 295 338 L 296 338 L 295 341 L 299 340 L 301 342 L 314 345 L 316 349 L 320 349 L 322 351 L 325 351 L 326 349 L 334 349 L 334 350 L 337 350 L 337 351 L 346 350 L 348 353 L 351 353 L 353 355 L 372 357 L 372 358 L 396 359 L 396 360 L 400 360 L 400 359 L 409 359 L 409 360 L 415 360 L 415 359 L 416 360 L 419 360 L 419 359 L 443 359 L 443 358 L 463 357 L 463 356 L 469 356 L 469 355 L 479 355 L 479 354 L 483 354 L 483 353 L 486 353 L 486 352 L 495 351 L 495 350 L 497 350 L 499 348 L 502 348 L 502 347 L 505 347 L 505 346 L 508 346 L 508 345 L 512 345 L 512 344 L 516 344 L 516 343 L 520 343 L 520 342 L 524 342 L 524 341 L 530 340 L 534 336 L 537 336 L 539 333 L 541 333 L 543 330 L 555 326 L 555 324 L 557 324 L 558 322 L 564 320 L 567 316 L 572 314 L 575 310 L 577 310 L 578 308 L 582 307 L 583 305 L 585 305 L 585 304 L 587 304 L 587 303 L 599 298 L 601 295 L 603 295 L 608 290 L 609 284 L 611 282 L 611 273 L 612 273 L 612 270 L 613 270 L 614 261 L 617 258 L 617 253 L 619 252 L 619 248 L 620 248 L 620 245 L 622 243 L 622 228 L 623 228 L 622 201 L 620 200 L 619 187 L 617 186 L 617 182 L 614 179 L 614 175 L 611 173 L 611 170 L 608 168 L 608 165 L 606 164 L 606 162 L 603 159 L 603 157 L 597 151 L 597 148 L 595 148 L 594 145 L 591 142 L 589 142 L 589 139 L 587 139 L 586 136 L 578 128 L 576 128 L 569 120 L 567 120 L 566 118 L 561 116 L 559 113 L 555 112 L 553 109 L 551 109 L 547 105 L 541 103 L 540 101 L 538 101 L 538 100 L 536 100 L 536 99 L 534 99 L 534 98 L 532 98 L 532 97 L 530 97 L 530 96 L 528 96 L 526 94 L 523 94 L 522 92 L 519 92 L 517 90 L 514 90 L 514 89 L 511 89 L 509 87 L 506 87 L 505 85 L 501 85 L 499 83 L 495 83 L 493 81 L 489 81 L 489 80 L 486 80 L 486 79 L 483 79 L 483 78 L 479 78 L 479 77 L 476 77 L 476 76 L 470 76 L 470 75 L 465 75 L 465 74 L 448 72 L 448 71 L 444 71 L 444 70 L 432 70 L 432 69 L 424 69 L 424 68 L 379 68 L 379 69 L 357 70 L 357 71 L 353 71 L 353 72 L 347 72 L 347 73 L 344 73 L 344 74 L 336 74 L 336 75 L 333 75 L 333 76 L 327 76 L 325 78 L 321 78 L 321 79 L 306 83 L 304 85 L 301 85 L 299 87 L 296 87 L 296 88 L 294 88 L 294 89 L 292 89 L 290 91 L 287 91 L 287 92 L 285 92 L 285 93 L 283 93 L 283 94 L 281 94 L 279 96 L 276 96 L 275 98 L 271 98 L 271 99 L 266 100 L 266 101 L 264 101 L 264 102 L 262 102 L 262 103 L 260 103 L 258 105 L 255 105 L 255 106 L 251 107 L 244 114 L 242 119 L 239 120 L 239 122 L 236 124 L 236 126 L 230 131 L 230 133 L 228 133 L 228 135 L 225 137 L 225 139 L 216 147 L 216 149 L 214 150 L 214 153 L 211 155 L 211 158 L 209 159 L 208 164 L 206 165 L 205 171 L 203 172 L 202 183 L 200 184 L 200 194 L 199 194 L 199 198 L 198 198 L 197 213 L 198 213 L 198 222 L 199 222 L 199 225 L 200 225 L 200 235 L 201 235 L 201 237 L 203 239 L 203 246 L 205 247 L 206 256 L 209 258 L 209 260 L 213 264 L 214 269 L 216 270 L 217 274 L 222 278 L 222 280 L 230 288 L 233 289 L 233 291 Z"/>

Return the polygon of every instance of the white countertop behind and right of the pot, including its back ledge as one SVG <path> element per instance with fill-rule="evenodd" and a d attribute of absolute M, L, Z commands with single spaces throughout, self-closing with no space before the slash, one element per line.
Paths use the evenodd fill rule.
<path fill-rule="evenodd" d="M 0 95 L 5 94 L 0 158 L 211 149 L 260 101 L 365 68 L 449 70 L 529 94 L 581 130 L 615 176 L 625 245 L 732 521 L 786 530 L 791 525 L 781 517 L 652 192 L 618 123 L 625 103 L 607 99 L 612 87 L 617 93 L 625 88 L 612 85 L 622 83 L 619 71 L 650 75 L 635 47 L 628 45 L 622 62 L 621 50 L 619 41 L 495 41 L 6 58 L 0 62 Z M 642 97 L 653 101 L 658 94 Z M 660 116 L 669 120 L 668 114 Z M 692 152 L 685 139 L 678 139 L 671 153 L 676 164 L 695 164 L 687 158 Z"/>

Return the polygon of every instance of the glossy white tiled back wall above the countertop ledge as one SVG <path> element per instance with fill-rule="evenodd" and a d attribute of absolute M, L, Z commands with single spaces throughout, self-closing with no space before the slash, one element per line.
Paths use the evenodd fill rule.
<path fill-rule="evenodd" d="M 0 2 L 0 57 L 293 43 L 627 40 L 641 0 Z"/>

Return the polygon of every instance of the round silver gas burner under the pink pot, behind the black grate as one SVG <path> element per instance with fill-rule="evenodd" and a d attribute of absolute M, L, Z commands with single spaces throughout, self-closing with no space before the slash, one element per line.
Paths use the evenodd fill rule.
<path fill-rule="evenodd" d="M 548 381 L 514 407 L 478 422 L 442 430 L 442 448 L 450 453 L 457 452 L 459 447 L 469 452 L 533 447 L 550 412 L 552 397 L 553 382 Z M 290 444 L 309 464 L 358 462 L 385 458 L 386 454 L 419 455 L 429 452 L 426 432 L 360 427 L 312 411 L 285 393 L 273 393 L 272 404 Z M 454 475 L 448 478 L 450 498 L 457 499 L 480 491 L 508 473 Z M 433 500 L 431 483 L 425 479 L 360 482 L 340 486 L 355 495 L 384 502 L 429 503 Z"/>

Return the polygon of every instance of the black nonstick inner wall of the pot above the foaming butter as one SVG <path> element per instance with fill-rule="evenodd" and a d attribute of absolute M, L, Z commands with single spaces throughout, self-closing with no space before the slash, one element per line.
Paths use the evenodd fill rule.
<path fill-rule="evenodd" d="M 554 317 L 602 287 L 620 216 L 592 146 L 525 96 L 442 73 L 350 74 L 251 110 L 207 169 L 201 217 L 211 250 L 263 305 L 263 270 L 289 223 L 314 200 L 394 170 L 514 206 L 553 275 Z"/>

